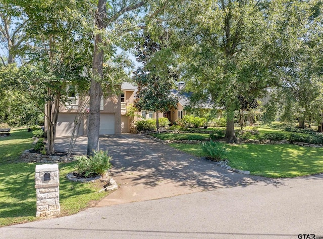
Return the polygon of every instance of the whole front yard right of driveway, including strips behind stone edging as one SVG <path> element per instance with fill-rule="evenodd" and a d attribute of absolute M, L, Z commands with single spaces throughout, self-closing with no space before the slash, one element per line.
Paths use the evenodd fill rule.
<path fill-rule="evenodd" d="M 208 129 L 213 130 L 211 135 L 221 136 L 223 128 Z M 321 141 L 322 135 L 313 135 L 306 133 L 290 133 L 283 130 L 271 128 L 257 128 L 257 135 L 249 135 L 249 138 L 273 137 L 291 137 L 306 140 Z M 241 135 L 241 134 L 240 134 Z M 200 140 L 205 141 L 210 137 L 209 133 L 201 129 L 199 133 L 161 133 L 153 134 L 154 137 L 163 140 Z M 222 135 L 224 136 L 224 135 Z M 217 138 L 217 137 L 216 137 Z M 221 138 L 221 137 L 220 137 Z M 314 140 L 315 141 L 315 140 Z M 171 147 L 185 153 L 197 156 L 207 157 L 201 147 L 201 144 L 169 144 Z M 323 148 L 301 147 L 291 144 L 283 145 L 260 145 L 260 144 L 240 144 L 229 145 L 227 147 L 227 160 L 229 166 L 240 170 L 248 170 L 252 175 L 264 177 L 297 177 L 323 173 Z"/>

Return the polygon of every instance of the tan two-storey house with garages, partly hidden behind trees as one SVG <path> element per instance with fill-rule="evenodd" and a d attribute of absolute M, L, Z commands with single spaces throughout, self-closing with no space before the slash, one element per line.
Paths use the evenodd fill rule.
<path fill-rule="evenodd" d="M 173 89 L 172 94 L 179 99 L 177 109 L 172 108 L 167 112 L 160 112 L 158 117 L 168 118 L 171 123 L 190 114 L 185 107 L 189 105 L 190 93 L 182 89 L 184 84 L 179 83 L 178 89 Z M 137 87 L 130 83 L 121 85 L 121 95 L 119 97 L 110 97 L 101 99 L 100 106 L 100 134 L 121 134 L 133 132 L 134 123 L 142 118 L 156 118 L 156 112 L 141 111 L 129 115 L 130 108 L 135 100 Z M 74 122 L 78 122 L 77 134 L 87 135 L 88 129 L 88 109 L 89 97 L 79 98 L 77 94 L 71 94 L 66 105 L 60 107 L 58 123 L 56 127 L 56 136 L 71 136 L 74 129 Z M 212 109 L 212 105 L 207 103 L 199 106 L 201 116 Z M 221 112 L 219 111 L 219 117 Z M 79 117 L 79 118 L 78 118 Z"/>

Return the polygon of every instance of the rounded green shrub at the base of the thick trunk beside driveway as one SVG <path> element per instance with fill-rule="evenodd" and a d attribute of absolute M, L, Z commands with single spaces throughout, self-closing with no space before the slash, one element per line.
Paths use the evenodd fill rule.
<path fill-rule="evenodd" d="M 107 151 L 94 151 L 94 155 L 87 158 L 86 156 L 76 157 L 76 172 L 82 177 L 95 177 L 102 175 L 111 167 L 111 157 Z"/>

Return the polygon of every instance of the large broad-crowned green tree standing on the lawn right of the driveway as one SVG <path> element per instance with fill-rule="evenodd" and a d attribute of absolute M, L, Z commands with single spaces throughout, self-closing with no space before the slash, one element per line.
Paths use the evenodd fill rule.
<path fill-rule="evenodd" d="M 239 96 L 252 102 L 280 84 L 303 36 L 307 3 L 278 1 L 189 1 L 170 25 L 188 87 L 209 95 L 227 112 L 226 141 L 237 142 L 234 112 Z"/>

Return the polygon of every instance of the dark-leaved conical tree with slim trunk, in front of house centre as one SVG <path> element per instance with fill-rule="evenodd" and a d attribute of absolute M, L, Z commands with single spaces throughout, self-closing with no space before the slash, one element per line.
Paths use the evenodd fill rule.
<path fill-rule="evenodd" d="M 144 42 L 136 47 L 137 61 L 142 63 L 142 66 L 137 68 L 134 75 L 134 81 L 138 86 L 134 105 L 139 110 L 156 112 L 158 130 L 158 113 L 177 108 L 178 99 L 171 94 L 177 74 L 166 63 L 172 58 L 166 49 L 167 32 L 159 37 L 160 42 L 154 41 L 147 32 L 143 37 Z M 168 58 L 165 58 L 163 50 L 168 53 Z"/>

